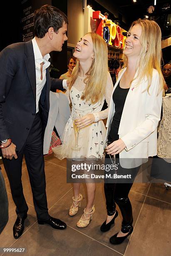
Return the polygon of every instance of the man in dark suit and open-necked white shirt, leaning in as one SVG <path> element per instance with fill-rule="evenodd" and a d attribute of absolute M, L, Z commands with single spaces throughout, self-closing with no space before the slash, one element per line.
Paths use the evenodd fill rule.
<path fill-rule="evenodd" d="M 48 214 L 43 136 L 50 108 L 50 88 L 63 90 L 62 84 L 66 83 L 50 78 L 49 53 L 62 51 L 68 20 L 59 9 L 44 5 L 35 11 L 34 23 L 35 38 L 7 46 L 0 52 L 0 148 L 16 205 L 14 238 L 22 235 L 28 211 L 21 181 L 23 155 L 38 223 L 66 228 L 64 222 Z"/>

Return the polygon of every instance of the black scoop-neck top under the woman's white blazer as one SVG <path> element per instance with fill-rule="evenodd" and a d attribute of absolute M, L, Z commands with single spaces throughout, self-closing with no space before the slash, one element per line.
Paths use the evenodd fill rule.
<path fill-rule="evenodd" d="M 126 96 L 129 92 L 129 88 L 126 88 L 126 89 L 121 88 L 119 84 L 120 82 L 116 86 L 116 89 L 114 90 L 114 93 L 112 96 L 114 105 L 115 105 L 115 113 L 114 113 L 114 117 L 110 126 L 109 135 L 108 135 L 108 140 L 111 142 L 119 139 L 119 135 L 118 135 L 119 124 L 121 121 L 121 115 L 124 108 Z"/>

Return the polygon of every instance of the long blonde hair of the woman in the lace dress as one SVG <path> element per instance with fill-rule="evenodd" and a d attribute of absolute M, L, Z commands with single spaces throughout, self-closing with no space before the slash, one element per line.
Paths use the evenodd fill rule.
<path fill-rule="evenodd" d="M 101 36 L 93 32 L 87 34 L 91 36 L 93 41 L 94 59 L 84 79 L 86 87 L 81 99 L 86 99 L 86 101 L 91 101 L 94 104 L 104 97 L 108 77 L 108 51 L 107 44 Z M 69 90 L 77 79 L 78 74 L 79 60 L 77 60 L 76 67 L 72 71 Z"/>

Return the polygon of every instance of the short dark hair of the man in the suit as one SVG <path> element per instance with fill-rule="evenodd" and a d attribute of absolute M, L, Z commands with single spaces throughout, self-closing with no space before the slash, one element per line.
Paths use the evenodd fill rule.
<path fill-rule="evenodd" d="M 43 38 L 51 27 L 57 33 L 63 23 L 68 23 L 68 19 L 58 8 L 52 5 L 43 5 L 40 9 L 35 10 L 34 23 L 35 36 Z"/>

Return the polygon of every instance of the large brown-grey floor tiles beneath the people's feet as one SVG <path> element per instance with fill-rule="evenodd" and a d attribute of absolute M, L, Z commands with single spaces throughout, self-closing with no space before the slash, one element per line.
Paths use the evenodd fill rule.
<path fill-rule="evenodd" d="M 25 255 L 29 256 L 171 255 L 171 189 L 167 191 L 163 184 L 135 183 L 133 185 L 129 198 L 133 207 L 134 231 L 124 243 L 114 246 L 109 243 L 109 237 L 119 230 L 121 219 L 117 218 L 115 226 L 107 233 L 99 230 L 106 218 L 102 183 L 97 184 L 94 202 L 96 211 L 93 220 L 87 228 L 77 228 L 76 222 L 81 217 L 86 204 L 85 187 L 81 185 L 84 199 L 78 214 L 69 217 L 72 184 L 66 183 L 66 160 L 60 161 L 53 155 L 45 157 L 49 212 L 50 215 L 61 218 L 67 223 L 66 230 L 55 230 L 48 225 L 37 224 L 27 168 L 23 161 L 22 183 L 29 212 L 24 233 L 15 240 L 12 235 L 12 226 L 16 218 L 15 205 L 2 164 L 1 167 L 9 200 L 9 221 L 0 235 L 0 248 L 25 248 Z M 121 217 L 120 211 L 119 217 Z M 7 255 L 10 254 L 12 253 L 7 253 Z"/>

